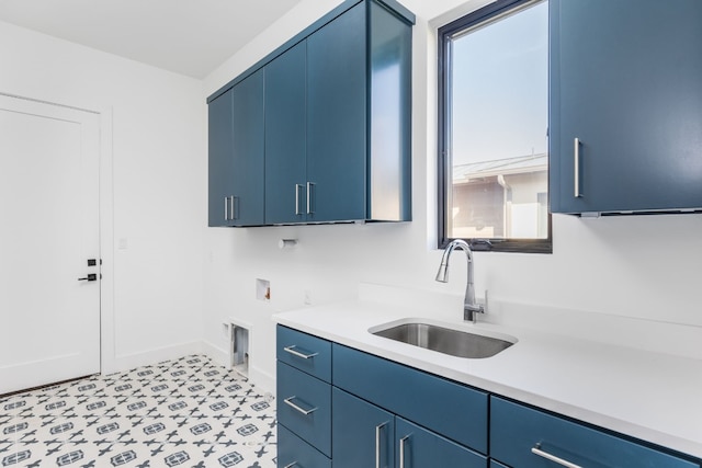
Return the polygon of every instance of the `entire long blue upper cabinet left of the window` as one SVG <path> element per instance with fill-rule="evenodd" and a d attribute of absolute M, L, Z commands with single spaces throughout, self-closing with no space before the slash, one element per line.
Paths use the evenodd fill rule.
<path fill-rule="evenodd" d="M 414 21 L 395 0 L 347 0 L 210 96 L 211 226 L 411 219 Z M 229 118 L 217 102 L 229 90 L 236 101 L 248 81 L 261 89 L 249 85 L 240 98 L 261 99 L 261 114 L 238 121 L 245 114 L 237 109 L 246 106 L 235 102 L 234 140 L 213 135 L 228 125 L 214 121 Z M 236 137 L 245 126 L 247 158 L 260 159 L 246 160 L 248 172 L 239 172 L 245 179 L 227 179 L 229 170 L 220 179 L 223 165 L 213 155 L 225 144 L 238 155 Z M 223 192 L 225 182 L 233 187 Z M 247 210 L 239 186 L 248 193 L 254 185 L 258 201 Z M 225 208 L 235 210 L 235 220 L 213 222 Z M 253 208 L 262 220 L 245 220 Z"/>

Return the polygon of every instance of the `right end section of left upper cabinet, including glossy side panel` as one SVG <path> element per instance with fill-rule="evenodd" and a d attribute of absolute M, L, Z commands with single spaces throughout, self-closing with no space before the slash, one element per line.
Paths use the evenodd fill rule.
<path fill-rule="evenodd" d="M 411 219 L 411 24 L 365 1 L 307 39 L 310 221 Z"/>

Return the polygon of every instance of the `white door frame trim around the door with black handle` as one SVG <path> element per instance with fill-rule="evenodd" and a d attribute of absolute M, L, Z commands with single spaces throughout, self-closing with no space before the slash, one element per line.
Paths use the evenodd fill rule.
<path fill-rule="evenodd" d="M 0 95 L 97 114 L 100 118 L 100 374 L 117 372 L 114 336 L 114 181 L 111 105 L 71 105 L 0 90 Z"/>

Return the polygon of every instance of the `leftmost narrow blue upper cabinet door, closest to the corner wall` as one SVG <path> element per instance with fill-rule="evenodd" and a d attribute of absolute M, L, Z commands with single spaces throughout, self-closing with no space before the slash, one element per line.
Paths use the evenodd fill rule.
<path fill-rule="evenodd" d="M 229 221 L 228 176 L 234 172 L 234 139 L 231 134 L 231 90 L 207 106 L 208 172 L 208 225 L 227 226 Z"/>

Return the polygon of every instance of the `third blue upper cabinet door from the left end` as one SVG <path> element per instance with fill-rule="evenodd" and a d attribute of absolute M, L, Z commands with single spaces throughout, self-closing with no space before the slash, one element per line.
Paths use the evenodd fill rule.
<path fill-rule="evenodd" d="M 265 66 L 265 224 L 306 219 L 306 42 Z"/>

